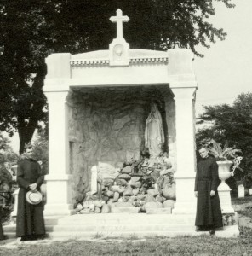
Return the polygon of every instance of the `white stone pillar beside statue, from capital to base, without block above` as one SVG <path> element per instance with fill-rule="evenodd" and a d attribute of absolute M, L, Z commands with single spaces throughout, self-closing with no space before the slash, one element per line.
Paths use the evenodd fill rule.
<path fill-rule="evenodd" d="M 177 170 L 174 213 L 196 211 L 194 180 L 196 174 L 194 92 L 195 88 L 172 89 L 176 106 Z"/>

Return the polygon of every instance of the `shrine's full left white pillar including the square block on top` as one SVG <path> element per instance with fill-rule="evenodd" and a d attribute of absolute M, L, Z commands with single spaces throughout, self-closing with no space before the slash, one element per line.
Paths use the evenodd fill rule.
<path fill-rule="evenodd" d="M 68 107 L 66 96 L 71 79 L 70 54 L 53 54 L 46 59 L 48 74 L 44 93 L 49 104 L 49 174 L 44 215 L 70 215 L 72 175 L 69 172 Z"/>

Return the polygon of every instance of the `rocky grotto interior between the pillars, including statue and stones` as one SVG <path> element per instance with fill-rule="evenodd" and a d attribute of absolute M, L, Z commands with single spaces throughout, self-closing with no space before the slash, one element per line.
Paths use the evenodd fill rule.
<path fill-rule="evenodd" d="M 110 206 L 120 204 L 137 212 L 173 205 L 175 102 L 169 85 L 77 87 L 67 105 L 77 213 L 113 212 Z"/>

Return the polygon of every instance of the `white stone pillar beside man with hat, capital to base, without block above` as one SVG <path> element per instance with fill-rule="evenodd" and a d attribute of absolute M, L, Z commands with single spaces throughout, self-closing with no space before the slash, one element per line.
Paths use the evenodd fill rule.
<path fill-rule="evenodd" d="M 47 92 L 49 103 L 49 175 L 45 215 L 69 215 L 72 208 L 72 175 L 69 173 L 69 142 L 66 96 L 68 91 Z"/>

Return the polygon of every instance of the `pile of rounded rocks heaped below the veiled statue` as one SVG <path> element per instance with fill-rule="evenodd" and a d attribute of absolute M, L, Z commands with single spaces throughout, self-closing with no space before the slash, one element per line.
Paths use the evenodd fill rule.
<path fill-rule="evenodd" d="M 174 169 L 166 154 L 125 163 L 114 180 L 103 180 L 100 186 L 101 200 L 88 198 L 77 205 L 77 212 L 107 213 L 122 206 L 146 212 L 148 208 L 172 208 L 175 202 Z"/>

